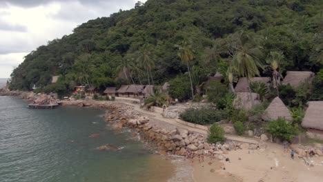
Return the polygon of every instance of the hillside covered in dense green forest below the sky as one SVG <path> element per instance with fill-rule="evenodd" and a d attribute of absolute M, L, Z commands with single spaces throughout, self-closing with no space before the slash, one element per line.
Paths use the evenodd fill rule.
<path fill-rule="evenodd" d="M 208 74 L 225 74 L 237 46 L 257 47 L 264 64 L 269 52 L 282 52 L 283 74 L 316 73 L 323 68 L 322 31 L 322 0 L 148 0 L 83 23 L 30 52 L 12 72 L 10 88 L 31 90 L 35 84 L 65 92 L 79 84 L 101 90 L 127 82 L 158 85 L 187 72 L 177 55 L 182 47 L 194 54 L 189 67 L 195 86 Z M 263 68 L 260 74 L 271 72 Z M 61 77 L 51 85 L 54 75 Z"/>

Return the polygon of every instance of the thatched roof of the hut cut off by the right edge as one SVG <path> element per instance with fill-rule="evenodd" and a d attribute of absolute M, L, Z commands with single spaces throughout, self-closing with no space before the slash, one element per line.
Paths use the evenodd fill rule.
<path fill-rule="evenodd" d="M 323 101 L 310 101 L 302 121 L 304 128 L 323 130 Z"/>

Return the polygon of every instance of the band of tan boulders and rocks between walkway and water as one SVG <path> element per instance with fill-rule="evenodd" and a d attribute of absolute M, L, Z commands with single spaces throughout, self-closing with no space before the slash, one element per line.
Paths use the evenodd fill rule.
<path fill-rule="evenodd" d="M 176 128 L 166 130 L 149 122 L 149 117 L 142 116 L 133 110 L 130 105 L 109 106 L 112 111 L 106 114 L 106 121 L 112 123 L 112 128 L 119 130 L 124 127 L 135 128 L 141 135 L 141 139 L 155 145 L 160 154 L 175 154 L 180 156 L 215 156 L 217 159 L 225 159 L 231 150 L 257 150 L 266 148 L 264 142 L 258 144 L 236 143 L 207 143 L 206 135 L 197 132 Z"/>

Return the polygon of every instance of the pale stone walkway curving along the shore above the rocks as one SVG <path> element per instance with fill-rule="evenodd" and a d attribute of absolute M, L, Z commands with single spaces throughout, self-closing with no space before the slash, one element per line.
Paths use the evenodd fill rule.
<path fill-rule="evenodd" d="M 156 119 L 158 121 L 170 123 L 171 125 L 174 125 L 176 127 L 184 128 L 186 130 L 191 130 L 191 131 L 194 131 L 194 132 L 199 132 L 201 134 L 208 134 L 207 130 L 201 130 L 199 128 L 193 128 L 193 127 L 190 127 L 188 125 L 178 123 L 177 121 L 175 121 L 175 119 L 166 119 L 166 118 L 162 117 L 161 114 L 159 114 L 157 112 L 148 112 L 146 110 L 142 110 L 140 108 L 140 105 L 137 105 L 137 104 L 134 104 L 134 103 L 128 103 L 128 102 L 120 102 L 120 101 L 117 101 L 117 102 L 124 103 L 124 104 L 127 104 L 127 105 L 132 105 L 134 107 L 134 110 L 136 110 L 137 112 L 140 112 L 142 114 L 146 114 L 149 117 L 153 117 L 153 119 Z M 257 139 L 246 138 L 246 137 L 243 137 L 243 136 L 235 136 L 235 135 L 231 135 L 231 134 L 225 134 L 225 136 L 226 136 L 226 139 L 231 140 L 231 141 L 239 141 L 239 142 L 244 142 L 244 143 L 259 143 L 259 140 L 257 140 Z"/>

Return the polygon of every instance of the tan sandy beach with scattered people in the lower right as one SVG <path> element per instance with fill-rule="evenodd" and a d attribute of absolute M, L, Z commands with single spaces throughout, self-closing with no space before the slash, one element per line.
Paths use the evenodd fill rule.
<path fill-rule="evenodd" d="M 295 155 L 290 158 L 280 145 L 267 143 L 266 150 L 235 150 L 226 156 L 231 163 L 206 158 L 204 163 L 195 159 L 195 181 L 323 181 L 323 157 L 313 157 L 306 165 L 303 159 Z M 209 164 L 211 160 L 211 165 Z M 225 170 L 223 169 L 225 168 Z M 215 172 L 211 172 L 214 169 Z"/>

